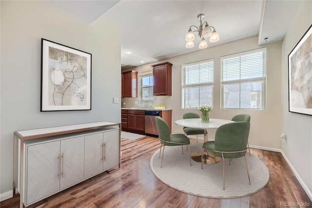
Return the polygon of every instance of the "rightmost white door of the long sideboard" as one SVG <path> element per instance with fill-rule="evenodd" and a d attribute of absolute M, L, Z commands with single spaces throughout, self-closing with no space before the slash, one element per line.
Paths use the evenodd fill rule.
<path fill-rule="evenodd" d="M 104 139 L 104 170 L 119 164 L 119 132 L 118 129 L 103 132 Z"/>

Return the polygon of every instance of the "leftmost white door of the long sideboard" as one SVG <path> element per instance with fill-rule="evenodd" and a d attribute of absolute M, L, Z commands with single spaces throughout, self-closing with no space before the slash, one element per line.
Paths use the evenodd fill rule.
<path fill-rule="evenodd" d="M 60 141 L 27 146 L 26 205 L 59 191 Z"/>

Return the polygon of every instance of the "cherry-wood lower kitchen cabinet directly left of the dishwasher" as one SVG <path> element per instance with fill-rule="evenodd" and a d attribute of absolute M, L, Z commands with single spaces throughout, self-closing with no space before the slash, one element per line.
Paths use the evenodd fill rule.
<path fill-rule="evenodd" d="M 128 110 L 128 129 L 145 131 L 145 111 L 144 110 Z"/>

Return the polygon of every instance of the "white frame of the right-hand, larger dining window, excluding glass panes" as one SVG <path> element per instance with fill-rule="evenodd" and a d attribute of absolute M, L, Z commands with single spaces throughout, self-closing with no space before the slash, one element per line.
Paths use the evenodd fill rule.
<path fill-rule="evenodd" d="M 223 81 L 223 61 L 229 58 L 241 58 L 244 55 L 250 55 L 254 53 L 263 53 L 263 69 L 262 69 L 262 77 L 257 77 L 257 78 L 250 78 L 250 79 L 237 79 L 237 80 L 231 80 L 231 81 Z M 239 62 L 241 64 L 241 62 Z M 239 66 L 239 73 L 242 72 L 240 66 Z M 260 107 L 254 107 L 254 108 L 246 108 L 246 107 L 241 107 L 239 99 L 239 107 L 237 108 L 230 108 L 230 107 L 224 107 L 224 86 L 229 85 L 229 84 L 248 84 L 248 83 L 261 83 L 262 89 L 260 93 L 260 98 L 261 99 L 261 106 Z M 248 110 L 266 110 L 266 94 L 267 94 L 267 48 L 260 48 L 260 49 L 255 49 L 251 51 L 246 51 L 242 53 L 237 53 L 237 54 L 232 54 L 228 56 L 223 56 L 221 57 L 221 109 L 248 109 Z M 251 92 L 252 93 L 252 92 Z M 252 93 L 253 94 L 253 93 Z M 241 91 L 239 89 L 239 96 L 241 95 Z"/>

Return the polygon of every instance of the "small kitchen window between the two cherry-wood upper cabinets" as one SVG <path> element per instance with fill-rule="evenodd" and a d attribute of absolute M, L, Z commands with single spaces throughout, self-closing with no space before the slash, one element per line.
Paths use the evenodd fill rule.
<path fill-rule="evenodd" d="M 156 100 L 156 96 L 153 95 L 153 72 L 143 73 L 139 76 L 142 101 Z"/>

